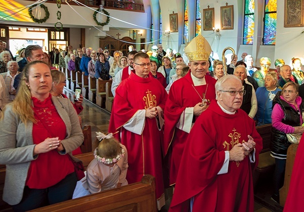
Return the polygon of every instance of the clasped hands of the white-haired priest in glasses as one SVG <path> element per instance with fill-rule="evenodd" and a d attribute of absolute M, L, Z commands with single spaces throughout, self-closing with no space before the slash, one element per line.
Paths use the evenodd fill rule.
<path fill-rule="evenodd" d="M 253 138 L 248 135 L 248 141 L 244 143 L 238 143 L 229 151 L 229 160 L 240 162 L 255 148 L 255 142 Z"/>

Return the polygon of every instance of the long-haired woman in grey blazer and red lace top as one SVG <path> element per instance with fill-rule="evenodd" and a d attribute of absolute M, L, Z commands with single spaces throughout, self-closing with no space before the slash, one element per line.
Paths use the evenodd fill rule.
<path fill-rule="evenodd" d="M 26 211 L 72 198 L 77 183 L 70 152 L 84 136 L 69 99 L 52 96 L 50 67 L 27 64 L 15 100 L 0 120 L 0 164 L 6 165 L 3 200 Z M 62 192 L 64 191 L 64 192 Z"/>

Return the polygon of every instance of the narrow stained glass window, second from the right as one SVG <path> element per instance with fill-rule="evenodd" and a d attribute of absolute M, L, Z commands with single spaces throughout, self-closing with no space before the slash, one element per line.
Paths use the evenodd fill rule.
<path fill-rule="evenodd" d="M 254 0 L 245 0 L 243 44 L 253 44 Z"/>

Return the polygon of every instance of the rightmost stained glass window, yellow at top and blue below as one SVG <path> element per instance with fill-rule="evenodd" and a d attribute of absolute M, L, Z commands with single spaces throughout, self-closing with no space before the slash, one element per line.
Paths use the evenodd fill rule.
<path fill-rule="evenodd" d="M 277 0 L 265 0 L 264 45 L 275 45 L 277 34 Z"/>

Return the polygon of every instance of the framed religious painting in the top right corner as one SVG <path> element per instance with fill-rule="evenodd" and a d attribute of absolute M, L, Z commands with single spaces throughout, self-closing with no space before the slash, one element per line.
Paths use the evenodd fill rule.
<path fill-rule="evenodd" d="M 285 0 L 284 27 L 303 27 L 304 0 Z"/>

